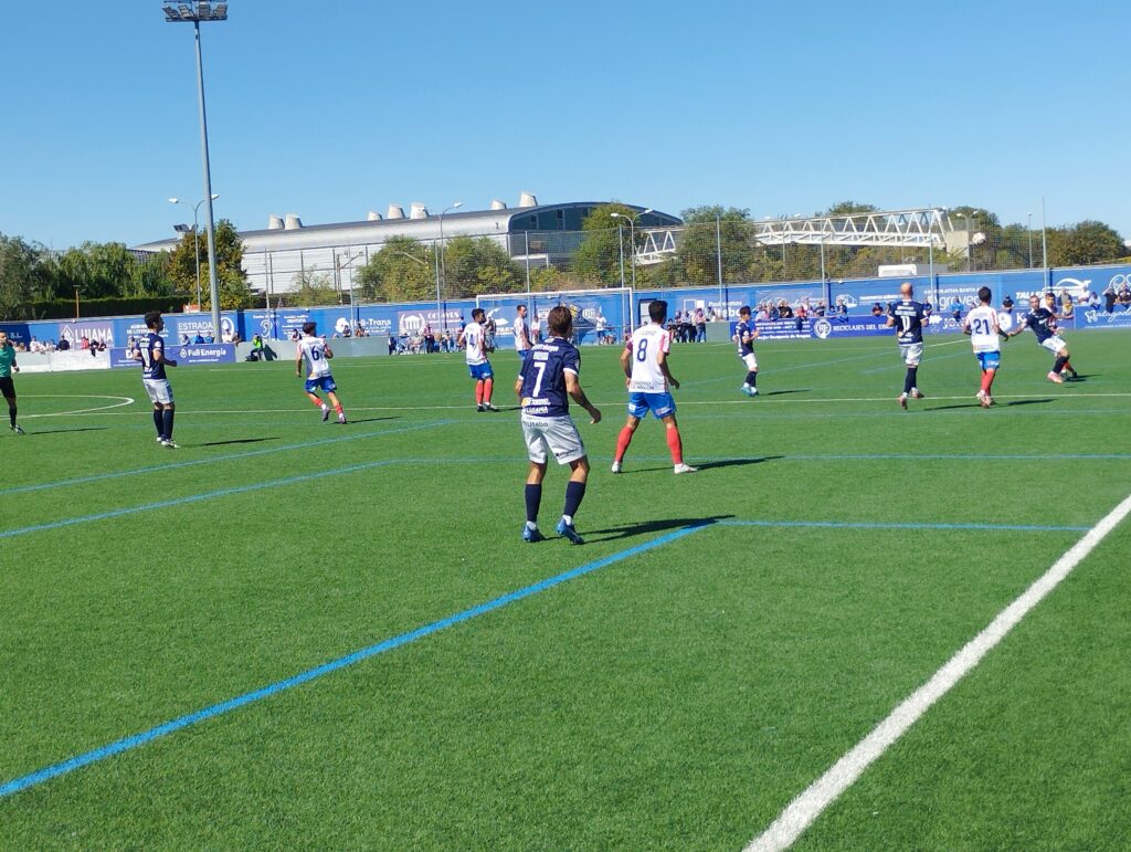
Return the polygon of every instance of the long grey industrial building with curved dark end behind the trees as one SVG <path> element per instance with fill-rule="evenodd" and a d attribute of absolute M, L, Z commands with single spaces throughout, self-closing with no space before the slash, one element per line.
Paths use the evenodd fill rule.
<path fill-rule="evenodd" d="M 539 205 L 523 192 L 518 207 L 493 200 L 489 209 L 459 209 L 437 214 L 423 204 L 404 207 L 391 204 L 382 215 L 370 212 L 364 221 L 327 225 L 303 225 L 295 214 L 273 215 L 262 231 L 241 231 L 243 268 L 258 292 L 286 293 L 299 289 L 304 274 L 329 275 L 343 292 L 353 287 L 354 270 L 369 263 L 391 238 L 409 238 L 424 243 L 454 236 L 490 236 L 503 246 L 519 264 L 555 264 L 576 249 L 581 222 L 606 201 L 568 201 Z M 682 221 L 666 213 L 624 205 L 637 214 L 638 229 L 668 227 Z M 179 239 L 158 240 L 135 247 L 141 251 L 172 251 Z"/>

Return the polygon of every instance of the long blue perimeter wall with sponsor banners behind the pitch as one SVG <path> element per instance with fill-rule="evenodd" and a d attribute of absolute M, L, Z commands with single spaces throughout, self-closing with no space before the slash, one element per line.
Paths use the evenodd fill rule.
<path fill-rule="evenodd" d="M 646 310 L 647 302 L 656 299 L 666 299 L 668 312 L 677 310 L 694 310 L 702 308 L 710 312 L 713 309 L 723 307 L 723 313 L 727 319 L 733 320 L 739 312 L 739 308 L 744 304 L 757 305 L 768 299 L 775 302 L 785 299 L 792 304 L 796 304 L 802 299 L 810 302 L 826 301 L 829 305 L 835 305 L 843 300 L 849 309 L 849 321 L 844 322 L 820 322 L 814 320 L 805 322 L 801 328 L 794 320 L 765 324 L 763 337 L 829 337 L 843 336 L 846 334 L 874 334 L 881 333 L 877 324 L 871 321 L 871 307 L 875 302 L 887 304 L 898 299 L 899 284 L 904 281 L 912 281 L 915 284 L 916 296 L 921 301 L 930 301 L 936 305 L 936 322 L 931 326 L 934 333 L 955 333 L 959 330 L 959 325 L 951 317 L 950 304 L 957 299 L 964 305 L 969 307 L 977 303 L 977 290 L 988 286 L 993 291 L 993 303 L 1001 304 L 1001 300 L 1011 295 L 1016 303 L 1016 310 L 1022 311 L 1027 305 L 1030 293 L 1043 293 L 1050 287 L 1056 293 L 1062 289 L 1068 289 L 1073 294 L 1083 286 L 1088 286 L 1095 293 L 1103 293 L 1108 285 L 1114 285 L 1119 290 L 1122 285 L 1131 282 L 1131 265 L 1103 266 L 1103 267 L 1070 267 L 1065 269 L 1021 269 L 1016 272 L 1000 273 L 965 273 L 936 275 L 932 282 L 930 276 L 913 276 L 910 278 L 860 278 L 855 281 L 836 281 L 822 284 L 821 282 L 798 283 L 798 284 L 743 284 L 724 285 L 722 292 L 718 287 L 689 287 L 671 290 L 640 290 L 634 294 L 627 294 L 624 291 L 615 290 L 608 293 L 601 291 L 572 292 L 572 293 L 533 293 L 529 298 L 523 293 L 509 294 L 506 296 L 484 296 L 480 304 L 492 316 L 498 326 L 498 337 L 500 345 L 506 346 L 512 341 L 511 322 L 515 313 L 515 305 L 528 303 L 530 315 L 539 319 L 545 318 L 546 312 L 556 304 L 567 304 L 575 315 L 575 326 L 577 337 L 580 343 L 596 343 L 595 333 L 598 318 L 604 319 L 604 324 L 610 333 L 620 336 L 631 321 L 631 315 L 640 316 L 641 310 Z M 447 302 L 442 305 L 442 313 L 435 304 L 406 303 L 406 304 L 366 304 L 351 309 L 349 305 L 334 308 L 283 308 L 278 310 L 249 310 L 249 311 L 225 311 L 221 317 L 221 325 L 225 332 L 239 332 L 240 336 L 248 341 L 252 335 L 260 334 L 265 339 L 284 339 L 291 332 L 301 328 L 303 322 L 317 322 L 319 333 L 326 335 L 340 334 L 346 326 L 364 326 L 371 334 L 417 334 L 425 325 L 430 325 L 432 330 L 439 334 L 444 326 L 454 333 L 459 326 L 470 319 L 472 309 L 476 307 L 474 300 L 461 300 Z M 831 319 L 831 317 L 829 318 Z M 1131 328 L 1131 312 L 1116 305 L 1113 313 L 1105 313 L 1103 309 L 1088 309 L 1078 307 L 1076 315 L 1070 321 L 1061 324 L 1069 328 Z M 19 343 L 28 343 L 31 338 L 37 337 L 41 341 L 60 341 L 67 338 L 71 344 L 76 344 L 81 337 L 104 341 L 107 346 L 124 346 L 132 337 L 140 337 L 147 333 L 141 317 L 105 317 L 97 319 L 75 320 L 38 320 L 31 322 L 0 322 L 0 328 L 8 332 L 8 336 Z M 831 329 L 831 330 L 829 330 Z M 171 342 L 180 341 L 185 334 L 191 339 L 197 335 L 211 332 L 211 316 L 208 313 L 170 313 L 165 315 L 164 336 Z"/>

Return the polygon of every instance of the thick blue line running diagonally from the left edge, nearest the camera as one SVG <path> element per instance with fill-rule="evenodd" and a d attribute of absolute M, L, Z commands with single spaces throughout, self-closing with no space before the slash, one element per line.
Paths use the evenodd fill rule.
<path fill-rule="evenodd" d="M 568 571 L 563 571 L 547 579 L 539 580 L 538 583 L 534 583 L 529 586 L 524 586 L 523 588 L 516 589 L 513 592 L 508 592 L 507 594 L 500 595 L 499 597 L 487 601 L 486 603 L 481 603 L 477 606 L 472 606 L 470 609 L 464 610 L 463 612 L 457 612 L 456 614 L 440 619 L 439 621 L 433 621 L 430 625 L 418 627 L 415 630 L 400 634 L 399 636 L 394 636 L 390 639 L 385 639 L 383 642 L 379 642 L 375 645 L 370 645 L 366 648 L 362 648 L 361 651 L 355 651 L 345 656 L 340 656 L 337 660 L 333 660 L 328 663 L 323 663 L 322 665 L 314 666 L 313 669 L 308 669 L 307 671 L 300 672 L 299 674 L 287 678 L 286 680 L 279 680 L 276 681 L 275 683 L 261 687 L 251 692 L 244 692 L 243 695 L 239 695 L 235 698 L 230 698 L 226 702 L 221 702 L 219 704 L 214 704 L 209 707 L 205 707 L 204 709 L 197 711 L 195 713 L 189 713 L 183 716 L 178 716 L 176 718 L 170 722 L 156 725 L 155 728 L 150 728 L 147 731 L 143 731 L 141 733 L 136 733 L 132 734 L 131 737 L 124 737 L 106 746 L 101 746 L 100 748 L 92 749 L 90 751 L 86 751 L 81 755 L 77 755 L 76 757 L 72 757 L 68 760 L 52 764 L 51 766 L 46 766 L 42 769 L 28 773 L 27 775 L 23 775 L 18 778 L 12 778 L 11 781 L 0 785 L 0 799 L 3 799 L 5 797 L 8 795 L 12 795 L 14 793 L 18 793 L 23 790 L 27 790 L 28 788 L 36 786 L 46 781 L 51 781 L 52 778 L 57 778 L 60 775 L 66 775 L 67 773 L 74 772 L 75 769 L 79 769 L 84 766 L 88 766 L 93 763 L 97 763 L 98 760 L 104 760 L 107 757 L 113 757 L 114 755 L 120 755 L 123 751 L 129 751 L 131 749 L 139 748 L 140 746 L 145 746 L 146 743 L 152 742 L 153 740 L 180 731 L 181 729 L 188 728 L 189 725 L 195 725 L 199 722 L 205 722 L 209 718 L 215 718 L 216 716 L 221 716 L 225 713 L 231 713 L 232 711 L 239 709 L 240 707 L 243 707 L 245 705 L 260 702 L 265 698 L 270 698 L 271 696 L 277 695 L 278 692 L 283 692 L 287 689 L 293 689 L 294 687 L 316 680 L 317 678 L 321 678 L 326 674 L 330 674 L 331 672 L 336 672 L 339 669 L 345 669 L 346 666 L 355 665 L 356 663 L 369 660 L 372 656 L 377 656 L 378 654 L 383 654 L 387 651 L 399 648 L 400 646 L 408 645 L 409 643 L 416 642 L 417 639 L 423 639 L 424 637 L 431 636 L 432 634 L 439 632 L 440 630 L 443 630 L 448 627 L 454 627 L 455 625 L 463 623 L 464 621 L 469 621 L 470 619 L 477 618 L 478 616 L 484 616 L 489 612 L 493 612 L 494 610 L 501 609 L 502 606 L 506 606 L 509 603 L 515 603 L 516 601 L 521 601 L 523 599 L 538 594 L 539 592 L 545 592 L 549 588 L 553 588 L 554 586 L 561 585 L 562 583 L 566 583 L 571 579 L 576 579 L 577 577 L 581 577 L 586 574 L 592 574 L 593 571 L 613 565 L 614 562 L 620 562 L 624 559 L 629 559 L 630 557 L 634 557 L 640 553 L 645 553 L 649 550 L 661 548 L 665 544 L 670 544 L 673 541 L 682 539 L 687 535 L 691 535 L 692 533 L 697 533 L 700 530 L 706 530 L 708 526 L 711 526 L 713 523 L 714 522 L 710 520 L 703 520 L 701 523 L 680 527 L 679 530 L 675 530 L 671 533 L 665 533 L 664 535 L 661 535 L 656 539 L 646 541 L 642 544 L 637 544 L 636 547 L 618 551 L 607 557 L 603 557 L 602 559 L 597 559 L 593 562 L 587 562 L 586 565 L 582 565 L 578 568 L 572 568 Z"/>

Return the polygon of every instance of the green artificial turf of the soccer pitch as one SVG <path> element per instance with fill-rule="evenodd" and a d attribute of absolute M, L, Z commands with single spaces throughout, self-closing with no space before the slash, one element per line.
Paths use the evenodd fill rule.
<path fill-rule="evenodd" d="M 291 364 L 179 368 L 180 450 L 137 371 L 18 376 L 0 784 L 593 570 L 2 797 L 0 847 L 741 849 L 1131 491 L 1131 337 L 1072 336 L 1063 386 L 1010 342 L 988 411 L 968 343 L 930 343 L 907 412 L 887 338 L 761 344 L 756 399 L 729 345 L 676 346 L 683 476 L 654 421 L 608 472 L 619 350 L 585 350 L 581 548 L 519 539 L 511 352 L 500 414 L 458 356 L 338 360 L 345 427 Z M 798 846 L 1126 847 L 1129 544 Z"/>

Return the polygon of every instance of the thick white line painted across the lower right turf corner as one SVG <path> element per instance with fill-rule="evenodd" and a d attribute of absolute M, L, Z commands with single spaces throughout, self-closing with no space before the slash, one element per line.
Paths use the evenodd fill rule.
<path fill-rule="evenodd" d="M 852 786 L 931 706 L 949 692 L 982 659 L 1005 638 L 1045 596 L 1087 557 L 1104 537 L 1131 514 L 1131 497 L 1112 509 L 1045 571 L 1020 597 L 998 613 L 946 665 L 863 740 L 836 761 L 821 777 L 794 799 L 782 815 L 746 846 L 746 852 L 768 852 L 791 846 L 809 826 Z"/>

